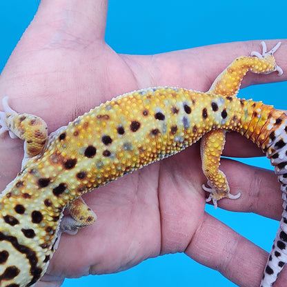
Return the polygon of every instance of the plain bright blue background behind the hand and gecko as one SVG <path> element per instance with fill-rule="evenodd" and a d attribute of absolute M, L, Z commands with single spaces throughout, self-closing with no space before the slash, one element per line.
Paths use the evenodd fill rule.
<path fill-rule="evenodd" d="M 83 1 L 84 3 L 84 1 Z M 34 17 L 39 0 L 0 1 L 0 71 Z M 213 43 L 286 38 L 287 1 L 110 0 L 106 41 L 117 52 L 154 54 Z M 287 82 L 253 86 L 240 95 L 287 109 Z M 249 96 L 250 95 L 250 96 Z M 244 162 L 271 168 L 265 158 Z M 278 223 L 257 215 L 206 210 L 269 250 Z M 248 224 L 246 224 L 246 222 Z M 264 226 L 264 238 L 259 236 Z M 63 286 L 235 286 L 185 255 L 148 259 L 115 275 L 66 279 Z"/>

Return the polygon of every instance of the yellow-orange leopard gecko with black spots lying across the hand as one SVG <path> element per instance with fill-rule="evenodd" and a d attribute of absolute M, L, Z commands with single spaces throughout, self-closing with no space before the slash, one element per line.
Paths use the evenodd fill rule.
<path fill-rule="evenodd" d="M 130 92 L 90 110 L 48 139 L 41 119 L 19 115 L 4 101 L 0 132 L 8 130 L 24 139 L 26 155 L 21 172 L 0 197 L 0 286 L 34 285 L 45 273 L 59 232 L 73 233 L 95 221 L 80 198 L 83 193 L 174 155 L 201 137 L 210 186 L 204 189 L 210 199 L 216 204 L 223 197 L 239 197 L 230 195 L 218 169 L 224 130 L 257 143 L 279 175 L 283 219 L 261 283 L 272 286 L 287 261 L 287 115 L 236 95 L 248 70 L 282 73 L 273 57 L 277 48 L 267 52 L 264 46 L 262 55 L 237 58 L 206 93 L 168 87 Z M 34 142 L 37 148 L 32 146 L 31 152 Z M 68 219 L 62 219 L 64 208 L 70 211 Z"/>

